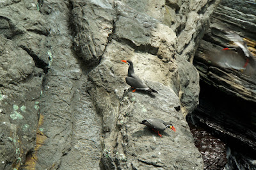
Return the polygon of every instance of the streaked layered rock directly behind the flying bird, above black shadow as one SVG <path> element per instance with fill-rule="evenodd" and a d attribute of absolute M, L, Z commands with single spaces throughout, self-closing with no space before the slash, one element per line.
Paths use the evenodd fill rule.
<path fill-rule="evenodd" d="M 238 3 L 239 2 L 239 3 Z M 236 4 L 236 8 L 233 5 Z M 248 8 L 250 6 L 250 8 Z M 241 11 L 239 11 L 239 10 Z M 237 70 L 216 68 L 207 62 L 207 52 L 227 47 L 228 40 L 224 39 L 221 29 L 231 29 L 251 42 L 250 50 L 255 51 L 255 5 L 243 1 L 223 1 L 211 19 L 211 26 L 200 43 L 196 53 L 195 65 L 205 82 L 216 86 L 226 93 L 241 97 L 244 100 L 256 102 L 255 82 L 256 75 L 247 76 Z M 254 42 L 253 42 L 254 40 Z M 235 81 L 234 81 L 235 80 Z"/>

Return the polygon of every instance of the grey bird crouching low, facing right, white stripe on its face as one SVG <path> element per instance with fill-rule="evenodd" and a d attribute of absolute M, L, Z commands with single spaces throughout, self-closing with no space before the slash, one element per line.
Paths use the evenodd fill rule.
<path fill-rule="evenodd" d="M 165 122 L 163 120 L 159 120 L 156 118 L 148 118 L 143 120 L 140 124 L 146 125 L 149 128 L 152 128 L 157 134 L 162 137 L 160 132 L 163 132 L 166 128 L 171 128 L 174 132 L 176 132 L 176 129 L 173 127 L 172 123 L 170 122 Z"/>

